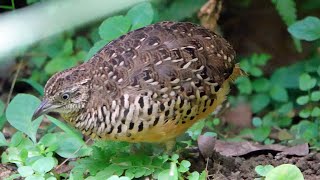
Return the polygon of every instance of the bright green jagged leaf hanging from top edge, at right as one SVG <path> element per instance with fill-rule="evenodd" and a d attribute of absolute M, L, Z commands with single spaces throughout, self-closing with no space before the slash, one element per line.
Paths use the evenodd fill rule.
<path fill-rule="evenodd" d="M 297 19 L 296 3 L 294 0 L 272 0 L 278 13 L 287 26 Z"/>

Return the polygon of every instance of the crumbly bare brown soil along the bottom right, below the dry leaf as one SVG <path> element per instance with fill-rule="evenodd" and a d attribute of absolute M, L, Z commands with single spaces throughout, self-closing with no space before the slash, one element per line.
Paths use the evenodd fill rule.
<path fill-rule="evenodd" d="M 203 169 L 207 169 L 209 179 L 254 179 L 258 177 L 254 168 L 257 165 L 267 164 L 273 166 L 294 164 L 299 167 L 306 180 L 320 179 L 320 153 L 311 153 L 304 157 L 281 156 L 268 152 L 256 152 L 243 157 L 225 157 L 214 153 L 208 159 L 199 155 L 188 160 L 192 164 L 192 170 L 201 172 Z"/>

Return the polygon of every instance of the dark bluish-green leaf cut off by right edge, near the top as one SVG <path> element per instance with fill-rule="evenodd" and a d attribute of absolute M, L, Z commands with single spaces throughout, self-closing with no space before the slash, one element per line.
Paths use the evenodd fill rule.
<path fill-rule="evenodd" d="M 314 41 L 320 38 L 320 19 L 308 16 L 292 24 L 288 31 L 298 39 Z"/>

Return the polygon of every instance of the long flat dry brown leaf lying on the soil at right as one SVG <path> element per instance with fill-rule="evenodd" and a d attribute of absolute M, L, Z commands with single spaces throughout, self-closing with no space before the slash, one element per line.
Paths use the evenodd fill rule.
<path fill-rule="evenodd" d="M 292 147 L 287 147 L 279 144 L 261 145 L 252 142 L 225 142 L 216 140 L 214 150 L 224 156 L 242 156 L 251 152 L 268 150 L 279 151 L 285 155 L 305 156 L 309 153 L 307 143 Z"/>

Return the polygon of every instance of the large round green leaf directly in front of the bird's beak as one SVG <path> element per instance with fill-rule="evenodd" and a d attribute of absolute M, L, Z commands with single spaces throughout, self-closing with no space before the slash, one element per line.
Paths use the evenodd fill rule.
<path fill-rule="evenodd" d="M 40 100 L 32 95 L 18 94 L 10 102 L 6 117 L 8 122 L 19 131 L 27 134 L 33 142 L 36 142 L 38 127 L 42 117 L 31 121 L 33 112 L 40 105 Z"/>

